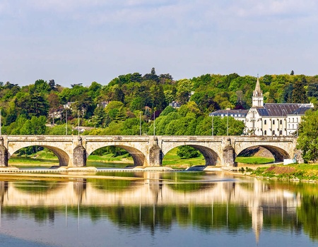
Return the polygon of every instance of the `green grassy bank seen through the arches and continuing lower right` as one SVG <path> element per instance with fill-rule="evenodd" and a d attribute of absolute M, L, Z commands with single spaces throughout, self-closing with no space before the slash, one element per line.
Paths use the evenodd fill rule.
<path fill-rule="evenodd" d="M 237 157 L 238 169 L 243 174 L 258 176 L 269 179 L 285 179 L 293 181 L 318 181 L 318 164 L 271 164 L 273 159 L 264 157 Z M 267 164 L 264 164 L 267 163 Z M 129 155 L 114 157 L 107 155 L 90 155 L 88 167 L 117 167 L 123 168 L 133 165 L 134 161 Z M 181 159 L 177 156 L 177 149 L 170 151 L 163 159 L 163 166 L 173 169 L 186 169 L 194 165 L 205 164 L 201 155 L 192 159 Z M 59 160 L 50 152 L 38 152 L 36 155 L 27 157 L 16 157 L 9 159 L 9 166 L 12 167 L 52 167 L 59 165 Z"/>

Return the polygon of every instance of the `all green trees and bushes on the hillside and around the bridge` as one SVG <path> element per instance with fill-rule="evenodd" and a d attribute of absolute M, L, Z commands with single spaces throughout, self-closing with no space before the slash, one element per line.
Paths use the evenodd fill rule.
<path fill-rule="evenodd" d="M 67 129 L 67 133 L 77 134 L 79 119 L 85 129 L 83 135 L 211 135 L 208 113 L 228 107 L 249 109 L 256 80 L 253 76 L 239 76 L 237 73 L 174 80 L 169 73 L 157 75 L 152 68 L 145 75 L 129 73 L 105 85 L 93 82 L 87 87 L 73 83 L 67 88 L 54 80 L 47 82 L 42 79 L 22 87 L 0 81 L 1 133 L 65 135 Z M 316 162 L 318 76 L 295 75 L 292 71 L 284 75 L 265 75 L 259 81 L 264 102 L 314 104 L 314 110 L 308 111 L 300 124 L 298 148 L 303 150 L 305 162 Z M 177 108 L 169 106 L 171 102 L 177 102 Z M 226 134 L 226 122 L 226 118 L 214 118 L 214 135 Z M 244 123 L 229 117 L 229 135 L 241 135 L 243 129 Z M 18 150 L 10 162 L 18 164 L 20 157 L 26 157 L 20 163 L 35 164 L 43 150 L 43 147 L 25 147 Z M 124 159 L 129 163 L 131 159 L 127 155 L 125 150 L 117 147 L 103 147 L 90 155 L 88 162 L 97 164 L 100 160 L 119 162 L 118 159 Z M 203 157 L 190 147 L 182 147 L 172 152 L 171 157 L 169 155 L 164 159 L 165 165 L 189 167 L 204 163 Z M 55 164 L 57 159 L 54 159 L 44 157 L 40 162 Z M 271 162 L 252 159 L 255 157 L 249 157 L 249 162 L 255 164 Z M 310 166 L 314 170 L 314 166 Z M 275 169 L 257 172 L 276 174 Z"/>

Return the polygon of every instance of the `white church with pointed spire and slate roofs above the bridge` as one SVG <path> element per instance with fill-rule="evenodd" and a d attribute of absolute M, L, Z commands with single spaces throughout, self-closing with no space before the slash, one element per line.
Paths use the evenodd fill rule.
<path fill-rule="evenodd" d="M 212 112 L 210 116 L 232 116 L 244 121 L 244 133 L 247 135 L 286 136 L 298 135 L 298 126 L 302 121 L 302 116 L 305 116 L 305 112 L 312 108 L 312 104 L 301 103 L 264 104 L 263 91 L 259 78 L 257 78 L 252 96 L 252 107 L 249 110 L 219 110 Z M 247 111 L 245 119 L 242 116 L 244 111 Z"/>

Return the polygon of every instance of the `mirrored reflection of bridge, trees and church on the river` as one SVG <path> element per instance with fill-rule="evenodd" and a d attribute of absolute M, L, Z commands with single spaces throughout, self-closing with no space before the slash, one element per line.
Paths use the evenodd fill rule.
<path fill-rule="evenodd" d="M 117 179 L 115 175 L 114 179 L 0 181 L 1 232 L 5 229 L 12 233 L 12 222 L 22 218 L 50 226 L 53 233 L 57 229 L 52 226 L 61 219 L 65 226 L 76 219 L 77 229 L 83 221 L 90 225 L 92 230 L 88 231 L 93 235 L 93 226 L 106 220 L 114 229 L 120 229 L 116 234 L 134 231 L 136 238 L 145 230 L 162 234 L 174 231 L 177 225 L 181 232 L 190 227 L 203 234 L 218 232 L 225 239 L 228 235 L 240 236 L 241 231 L 251 232 L 252 242 L 259 246 L 266 246 L 265 241 L 260 241 L 265 229 L 305 233 L 312 244 L 317 243 L 315 184 L 240 179 L 214 173 L 125 175 L 136 176 L 137 180 Z"/>

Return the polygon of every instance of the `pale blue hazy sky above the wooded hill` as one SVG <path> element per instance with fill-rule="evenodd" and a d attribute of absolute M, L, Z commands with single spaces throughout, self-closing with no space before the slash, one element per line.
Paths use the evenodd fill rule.
<path fill-rule="evenodd" d="M 0 81 L 318 74 L 317 0 L 0 0 Z"/>

